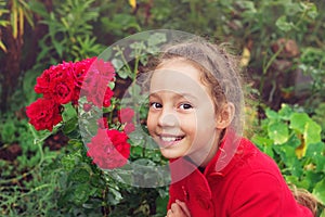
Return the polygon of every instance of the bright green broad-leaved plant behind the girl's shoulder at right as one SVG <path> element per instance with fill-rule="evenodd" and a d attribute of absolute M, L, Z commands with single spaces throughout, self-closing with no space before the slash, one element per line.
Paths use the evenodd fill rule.
<path fill-rule="evenodd" d="M 306 112 L 287 104 L 278 112 L 266 108 L 265 114 L 261 131 L 252 141 L 276 161 L 289 184 L 308 189 L 325 205 L 325 143 L 321 126 Z"/>

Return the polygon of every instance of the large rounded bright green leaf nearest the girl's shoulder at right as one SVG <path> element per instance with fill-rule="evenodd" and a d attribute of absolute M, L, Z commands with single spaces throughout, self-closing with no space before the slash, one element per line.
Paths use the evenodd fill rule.
<path fill-rule="evenodd" d="M 283 144 L 289 139 L 289 130 L 284 123 L 270 123 L 268 127 L 268 133 L 275 144 Z"/>

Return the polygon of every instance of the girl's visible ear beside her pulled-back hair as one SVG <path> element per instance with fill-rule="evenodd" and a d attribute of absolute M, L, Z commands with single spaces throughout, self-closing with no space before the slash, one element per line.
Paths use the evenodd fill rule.
<path fill-rule="evenodd" d="M 231 102 L 224 103 L 220 107 L 219 114 L 217 114 L 217 129 L 224 129 L 230 126 L 234 118 L 235 105 Z"/>

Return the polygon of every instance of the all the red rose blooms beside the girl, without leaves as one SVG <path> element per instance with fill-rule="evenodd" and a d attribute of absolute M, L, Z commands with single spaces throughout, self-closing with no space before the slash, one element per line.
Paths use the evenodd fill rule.
<path fill-rule="evenodd" d="M 42 98 L 26 107 L 29 123 L 37 130 L 52 131 L 53 126 L 62 122 L 63 104 L 78 105 L 80 97 L 84 97 L 88 101 L 83 104 L 86 112 L 89 112 L 92 106 L 108 107 L 114 94 L 108 84 L 114 78 L 113 65 L 96 58 L 51 66 L 37 78 L 35 91 L 41 93 Z M 127 142 L 126 132 L 131 130 L 134 112 L 122 110 L 120 113 L 126 114 L 120 119 L 121 124 L 126 124 L 125 131 L 108 129 L 107 119 L 103 117 L 99 119 L 100 128 L 96 136 L 87 144 L 88 156 L 103 169 L 121 167 L 130 156 L 130 144 Z"/>

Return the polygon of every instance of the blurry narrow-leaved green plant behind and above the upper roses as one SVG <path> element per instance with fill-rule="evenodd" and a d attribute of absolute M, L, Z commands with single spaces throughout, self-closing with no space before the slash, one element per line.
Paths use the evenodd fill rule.
<path fill-rule="evenodd" d="M 47 13 L 44 5 L 38 1 L 31 2 L 31 9 L 43 20 L 49 33 L 40 40 L 41 52 L 38 62 L 50 64 L 58 60 L 76 61 L 98 55 L 103 47 L 96 43 L 92 35 L 91 22 L 99 17 L 99 8 L 93 7 L 94 0 L 57 0 L 57 8 Z M 54 2 L 55 3 L 55 2 Z"/>

